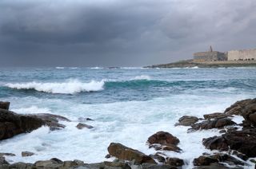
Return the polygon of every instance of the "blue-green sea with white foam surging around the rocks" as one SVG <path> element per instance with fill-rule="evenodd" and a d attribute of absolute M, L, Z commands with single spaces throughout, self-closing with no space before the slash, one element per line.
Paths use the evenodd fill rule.
<path fill-rule="evenodd" d="M 81 159 L 97 163 L 105 159 L 111 142 L 154 154 L 146 140 L 158 131 L 180 140 L 182 153 L 164 151 L 185 159 L 191 167 L 195 157 L 210 152 L 202 138 L 218 130 L 186 133 L 174 124 L 181 116 L 223 112 L 237 100 L 256 96 L 256 69 L 103 69 L 103 68 L 1 68 L 0 100 L 23 114 L 52 113 L 72 122 L 50 132 L 38 128 L 29 134 L 0 142 L 0 152 L 11 152 L 10 163 L 41 159 Z M 91 118 L 92 129 L 78 130 L 78 118 Z M 234 118 L 238 123 L 242 117 Z M 22 151 L 36 155 L 22 157 Z"/>

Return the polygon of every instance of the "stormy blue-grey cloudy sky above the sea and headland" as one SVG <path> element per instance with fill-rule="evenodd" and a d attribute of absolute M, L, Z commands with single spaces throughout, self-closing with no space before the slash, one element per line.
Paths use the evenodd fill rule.
<path fill-rule="evenodd" d="M 1 66 L 143 66 L 256 48 L 255 0 L 1 0 Z"/>

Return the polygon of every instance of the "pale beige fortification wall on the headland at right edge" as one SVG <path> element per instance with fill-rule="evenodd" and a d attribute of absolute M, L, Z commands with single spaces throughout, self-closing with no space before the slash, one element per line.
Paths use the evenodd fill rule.
<path fill-rule="evenodd" d="M 228 61 L 254 61 L 256 49 L 231 50 L 227 52 Z"/>

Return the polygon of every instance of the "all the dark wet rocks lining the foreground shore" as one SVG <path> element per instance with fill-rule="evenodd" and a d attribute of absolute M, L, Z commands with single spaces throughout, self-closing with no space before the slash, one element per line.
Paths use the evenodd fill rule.
<path fill-rule="evenodd" d="M 20 115 L 9 111 L 9 102 L 0 102 L 0 140 L 6 140 L 21 133 L 32 132 L 42 126 L 50 131 L 61 130 L 65 125 L 61 121 L 70 121 L 66 117 L 52 114 Z M 241 124 L 235 123 L 234 116 L 242 116 Z M 224 112 L 206 114 L 204 118 L 182 116 L 175 126 L 188 126 L 187 136 L 191 132 L 217 128 L 221 136 L 211 136 L 202 140 L 202 145 L 212 153 L 195 156 L 194 168 L 255 168 L 256 160 L 256 98 L 240 100 L 226 108 Z M 81 119 L 81 122 L 91 120 Z M 93 126 L 78 123 L 78 129 Z M 149 136 L 146 144 L 154 148 L 155 154 L 146 155 L 141 151 L 126 147 L 122 143 L 110 143 L 106 159 L 114 157 L 113 162 L 85 163 L 80 160 L 62 161 L 50 159 L 35 163 L 8 163 L 7 156 L 14 154 L 0 152 L 0 168 L 185 168 L 187 162 L 165 151 L 182 153 L 180 140 L 169 132 L 159 131 Z M 193 147 L 191 147 L 193 148 Z M 34 155 L 34 152 L 23 151 L 22 156 Z"/>

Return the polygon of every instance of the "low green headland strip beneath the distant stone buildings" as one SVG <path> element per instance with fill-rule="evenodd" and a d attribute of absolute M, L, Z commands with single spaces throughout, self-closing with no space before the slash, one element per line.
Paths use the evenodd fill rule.
<path fill-rule="evenodd" d="M 168 64 L 149 65 L 145 68 L 229 68 L 229 67 L 256 67 L 256 61 L 177 61 Z"/>

